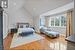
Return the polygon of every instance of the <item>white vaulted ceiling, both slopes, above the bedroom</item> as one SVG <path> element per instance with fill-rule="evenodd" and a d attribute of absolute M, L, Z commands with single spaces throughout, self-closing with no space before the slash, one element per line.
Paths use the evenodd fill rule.
<path fill-rule="evenodd" d="M 73 0 L 8 0 L 9 11 L 23 7 L 32 16 L 39 16 L 45 12 L 63 6 Z"/>

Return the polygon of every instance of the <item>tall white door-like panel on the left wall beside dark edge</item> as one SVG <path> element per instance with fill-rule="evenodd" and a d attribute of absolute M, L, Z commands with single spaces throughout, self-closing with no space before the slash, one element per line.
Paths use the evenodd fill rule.
<path fill-rule="evenodd" d="M 6 12 L 3 12 L 3 39 L 8 34 L 8 27 L 9 27 L 8 23 L 9 23 L 9 16 L 7 15 Z"/>

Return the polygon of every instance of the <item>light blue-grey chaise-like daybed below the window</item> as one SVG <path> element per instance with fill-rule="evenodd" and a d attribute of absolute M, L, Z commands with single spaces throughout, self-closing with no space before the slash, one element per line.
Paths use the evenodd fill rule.
<path fill-rule="evenodd" d="M 46 28 L 46 27 L 42 27 L 40 29 L 40 32 L 51 37 L 51 38 L 56 38 L 59 37 L 59 32 L 56 31 L 51 31 L 50 29 Z"/>

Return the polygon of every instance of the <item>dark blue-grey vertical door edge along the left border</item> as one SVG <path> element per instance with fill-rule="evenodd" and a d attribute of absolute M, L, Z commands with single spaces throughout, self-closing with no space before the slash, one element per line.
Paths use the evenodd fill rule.
<path fill-rule="evenodd" d="M 3 50 L 3 12 L 0 8 L 0 50 Z"/>

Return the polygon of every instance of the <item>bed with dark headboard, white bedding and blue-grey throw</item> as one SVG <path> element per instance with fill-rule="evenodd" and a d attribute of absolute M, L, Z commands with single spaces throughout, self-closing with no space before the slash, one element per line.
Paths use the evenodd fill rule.
<path fill-rule="evenodd" d="M 19 36 L 28 36 L 34 33 L 34 29 L 29 26 L 29 23 L 17 23 L 17 29 Z"/>

